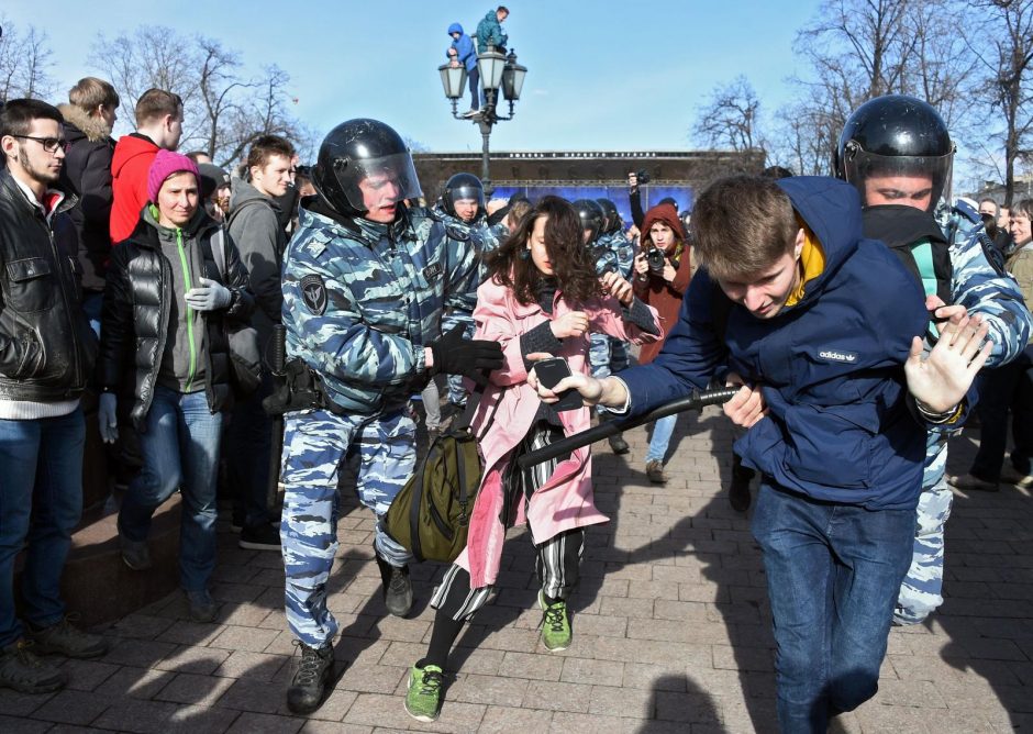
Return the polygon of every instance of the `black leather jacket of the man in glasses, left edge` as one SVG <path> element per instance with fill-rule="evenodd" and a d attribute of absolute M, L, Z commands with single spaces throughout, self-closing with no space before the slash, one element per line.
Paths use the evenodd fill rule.
<path fill-rule="evenodd" d="M 79 307 L 78 243 L 68 197 L 47 224 L 0 170 L 0 400 L 58 402 L 82 393 L 97 340 Z"/>

